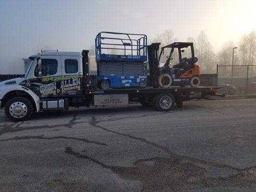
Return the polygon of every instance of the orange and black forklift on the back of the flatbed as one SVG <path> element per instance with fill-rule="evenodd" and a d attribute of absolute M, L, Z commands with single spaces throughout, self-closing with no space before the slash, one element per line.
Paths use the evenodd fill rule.
<path fill-rule="evenodd" d="M 160 43 L 152 43 L 147 46 L 150 84 L 154 87 L 170 87 L 171 85 L 179 85 L 181 87 L 186 85 L 190 85 L 191 87 L 199 86 L 201 83 L 200 66 L 196 64 L 198 59 L 195 57 L 193 43 L 174 42 L 162 47 L 160 54 L 158 54 L 159 45 Z M 166 56 L 167 60 L 163 67 L 160 67 L 159 60 L 165 48 L 171 48 L 171 51 Z M 178 49 L 179 63 L 171 68 L 170 61 L 172 60 L 172 54 L 175 48 Z M 182 57 L 183 48 L 191 49 L 190 58 Z"/>

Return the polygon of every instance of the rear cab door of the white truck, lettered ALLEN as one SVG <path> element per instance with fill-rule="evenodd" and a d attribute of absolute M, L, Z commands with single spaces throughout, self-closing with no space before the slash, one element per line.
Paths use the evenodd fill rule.
<path fill-rule="evenodd" d="M 78 56 L 61 56 L 63 96 L 82 95 L 82 58 Z"/>

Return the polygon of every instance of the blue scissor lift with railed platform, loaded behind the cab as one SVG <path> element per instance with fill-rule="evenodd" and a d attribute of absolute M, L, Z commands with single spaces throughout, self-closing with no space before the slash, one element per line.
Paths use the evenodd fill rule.
<path fill-rule="evenodd" d="M 141 34 L 98 33 L 95 48 L 99 87 L 146 87 L 146 41 L 146 35 Z"/>

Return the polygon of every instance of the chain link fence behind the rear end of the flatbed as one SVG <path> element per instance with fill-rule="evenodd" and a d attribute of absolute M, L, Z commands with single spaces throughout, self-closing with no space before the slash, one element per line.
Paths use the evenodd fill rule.
<path fill-rule="evenodd" d="M 217 65 L 217 75 L 226 95 L 256 93 L 256 65 Z"/>

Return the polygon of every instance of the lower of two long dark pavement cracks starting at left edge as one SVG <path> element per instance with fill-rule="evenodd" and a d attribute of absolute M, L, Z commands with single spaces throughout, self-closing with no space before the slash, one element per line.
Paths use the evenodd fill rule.
<path fill-rule="evenodd" d="M 90 140 L 84 139 L 84 138 L 66 137 L 66 136 L 45 137 L 44 135 L 13 137 L 13 138 L 9 138 L 9 139 L 1 139 L 0 142 L 13 141 L 13 140 L 28 140 L 28 139 L 46 139 L 46 140 L 51 140 L 51 139 L 71 139 L 71 140 L 82 141 L 82 142 L 85 142 L 85 143 L 92 143 L 92 144 L 99 144 L 99 145 L 106 145 L 106 146 L 108 145 L 108 144 L 105 144 L 105 143 L 100 143 L 100 142 L 96 142 L 96 141 L 90 141 Z"/>

